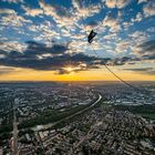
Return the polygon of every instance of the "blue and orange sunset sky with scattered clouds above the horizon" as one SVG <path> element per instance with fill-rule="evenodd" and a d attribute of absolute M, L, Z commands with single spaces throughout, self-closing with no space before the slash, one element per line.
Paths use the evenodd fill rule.
<path fill-rule="evenodd" d="M 0 81 L 116 81 L 104 64 L 155 81 L 154 0 L 0 0 Z"/>

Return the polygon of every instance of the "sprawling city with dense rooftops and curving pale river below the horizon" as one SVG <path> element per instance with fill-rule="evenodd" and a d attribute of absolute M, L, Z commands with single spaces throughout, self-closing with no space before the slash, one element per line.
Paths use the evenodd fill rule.
<path fill-rule="evenodd" d="M 0 154 L 153 155 L 155 83 L 133 84 L 149 97 L 117 82 L 1 83 Z"/>

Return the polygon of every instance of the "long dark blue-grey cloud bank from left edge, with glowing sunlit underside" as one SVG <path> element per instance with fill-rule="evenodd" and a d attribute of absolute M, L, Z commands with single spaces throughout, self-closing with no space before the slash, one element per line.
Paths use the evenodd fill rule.
<path fill-rule="evenodd" d="M 33 41 L 27 42 L 28 48 L 22 52 L 1 51 L 0 65 L 14 68 L 29 68 L 43 71 L 58 71 L 58 73 L 68 73 L 65 68 L 71 65 L 74 72 L 85 71 L 91 69 L 99 69 L 107 63 L 108 65 L 123 65 L 130 58 L 122 58 L 116 60 L 102 59 L 85 55 L 83 53 L 68 53 L 68 46 L 64 44 L 53 44 L 46 46 L 42 43 Z"/>

